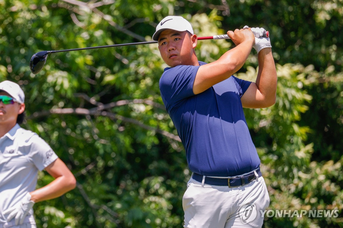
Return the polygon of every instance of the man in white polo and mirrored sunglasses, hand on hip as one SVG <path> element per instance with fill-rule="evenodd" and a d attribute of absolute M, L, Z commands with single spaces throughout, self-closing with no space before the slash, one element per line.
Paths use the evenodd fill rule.
<path fill-rule="evenodd" d="M 35 228 L 32 207 L 75 188 L 68 167 L 37 134 L 19 126 L 25 95 L 12 81 L 0 83 L 0 228 Z M 36 189 L 38 170 L 55 178 Z"/>

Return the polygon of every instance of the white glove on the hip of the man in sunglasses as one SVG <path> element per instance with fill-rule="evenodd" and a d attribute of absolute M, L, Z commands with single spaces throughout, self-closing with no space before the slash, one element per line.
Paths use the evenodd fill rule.
<path fill-rule="evenodd" d="M 29 193 L 26 193 L 25 197 L 19 203 L 17 203 L 12 208 L 4 211 L 3 214 L 9 214 L 7 216 L 7 222 L 11 221 L 14 218 L 15 225 L 21 225 L 24 223 L 26 215 L 30 212 L 34 204 L 35 202 L 31 200 L 31 195 Z"/>

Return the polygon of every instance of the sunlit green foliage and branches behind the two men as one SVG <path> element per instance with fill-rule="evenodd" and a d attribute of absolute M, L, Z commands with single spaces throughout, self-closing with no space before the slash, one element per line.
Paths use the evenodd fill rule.
<path fill-rule="evenodd" d="M 199 36 L 264 27 L 277 66 L 276 104 L 246 109 L 270 210 L 339 210 L 336 218 L 265 216 L 264 227 L 343 227 L 342 0 L 0 0 L 0 80 L 26 94 L 26 122 L 75 175 L 78 186 L 35 205 L 38 227 L 182 227 L 191 173 L 166 113 L 157 45 L 50 54 L 42 50 L 149 41 L 156 23 L 182 15 Z M 229 40 L 199 42 L 217 59 Z M 255 80 L 252 50 L 237 72 Z M 38 186 L 52 179 L 39 174 Z"/>

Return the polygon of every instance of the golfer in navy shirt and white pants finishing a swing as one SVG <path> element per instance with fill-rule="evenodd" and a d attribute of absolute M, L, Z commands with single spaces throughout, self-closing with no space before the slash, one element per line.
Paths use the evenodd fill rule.
<path fill-rule="evenodd" d="M 161 96 L 193 172 L 182 199 L 187 228 L 261 227 L 260 210 L 269 195 L 260 159 L 249 134 L 243 107 L 275 103 L 276 69 L 263 28 L 236 29 L 227 35 L 235 47 L 212 63 L 198 61 L 197 35 L 180 16 L 167 16 L 156 27 L 162 59 L 170 67 L 159 81 Z M 256 82 L 233 76 L 251 49 L 258 53 Z M 240 209 L 254 204 L 252 221 Z"/>

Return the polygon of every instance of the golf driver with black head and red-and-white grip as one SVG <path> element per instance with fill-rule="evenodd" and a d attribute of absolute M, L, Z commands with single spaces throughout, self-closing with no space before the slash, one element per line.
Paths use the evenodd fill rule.
<path fill-rule="evenodd" d="M 263 37 L 269 37 L 269 32 L 266 31 Z M 230 39 L 228 35 L 216 35 L 216 36 L 206 36 L 206 37 L 198 37 L 198 40 L 218 40 L 218 39 Z M 57 53 L 57 52 L 69 52 L 69 51 L 80 51 L 80 50 L 87 50 L 87 49 L 97 49 L 97 48 L 111 48 L 111 47 L 122 47 L 122 46 L 131 46 L 131 45 L 143 45 L 143 44 L 151 44 L 157 43 L 157 41 L 144 41 L 144 42 L 137 42 L 137 43 L 123 43 L 123 44 L 116 44 L 116 45 L 106 45 L 106 46 L 97 46 L 97 47 L 88 47 L 88 48 L 75 48 L 75 49 L 67 49 L 67 50 L 58 50 L 58 51 L 40 51 L 32 55 L 30 60 L 30 69 L 33 74 L 38 74 L 42 71 L 48 54 Z"/>

